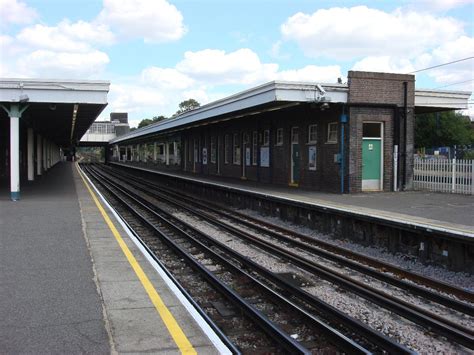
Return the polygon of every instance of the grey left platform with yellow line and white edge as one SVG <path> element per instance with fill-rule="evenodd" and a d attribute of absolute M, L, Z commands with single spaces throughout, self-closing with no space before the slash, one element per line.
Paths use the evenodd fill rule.
<path fill-rule="evenodd" d="M 76 164 L 1 190 L 0 235 L 0 353 L 226 352 Z"/>

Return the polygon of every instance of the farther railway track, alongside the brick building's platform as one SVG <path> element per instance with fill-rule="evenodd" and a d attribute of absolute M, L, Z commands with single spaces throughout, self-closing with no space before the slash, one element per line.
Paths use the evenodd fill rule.
<path fill-rule="evenodd" d="M 319 241 L 315 241 L 313 238 L 296 234 L 292 231 L 285 230 L 283 228 L 268 224 L 262 223 L 262 221 L 250 218 L 245 215 L 239 214 L 235 216 L 235 212 L 227 211 L 223 209 L 222 206 L 215 206 L 209 203 L 201 203 L 195 199 L 184 196 L 182 193 L 177 193 L 170 191 L 168 188 L 163 188 L 155 183 L 151 183 L 145 179 L 137 178 L 131 174 L 124 174 L 122 171 L 117 172 L 114 169 L 106 168 L 106 173 L 110 174 L 108 177 L 102 175 L 102 178 L 111 178 L 121 179 L 121 184 L 129 184 L 133 186 L 134 189 L 139 190 L 143 193 L 146 193 L 148 196 L 152 196 L 155 199 L 160 201 L 166 201 L 166 203 L 173 205 L 176 208 L 185 210 L 187 213 L 194 214 L 200 219 L 207 221 L 223 230 L 226 230 L 228 233 L 238 236 L 239 238 L 245 240 L 248 243 L 257 245 L 262 250 L 265 250 L 274 255 L 278 255 L 281 258 L 285 258 L 289 262 L 297 265 L 299 268 L 304 269 L 308 272 L 314 273 L 318 277 L 326 279 L 334 284 L 337 284 L 339 287 L 345 288 L 349 292 L 353 292 L 361 297 L 364 297 L 371 302 L 378 304 L 381 307 L 387 308 L 392 312 L 396 312 L 401 316 L 417 323 L 421 324 L 424 327 L 437 332 L 438 334 L 445 336 L 452 341 L 462 344 L 465 347 L 473 348 L 473 332 L 466 327 L 457 324 L 456 322 L 449 321 L 443 317 L 440 317 L 432 312 L 426 311 L 423 308 L 414 306 L 408 302 L 401 301 L 396 297 L 392 297 L 385 292 L 376 290 L 367 284 L 361 283 L 357 280 L 353 280 L 346 275 L 341 273 L 334 272 L 327 267 L 315 263 L 311 260 L 302 258 L 301 255 L 291 252 L 289 249 L 302 249 L 307 252 L 317 254 L 321 257 L 324 257 L 332 262 L 339 263 L 344 267 L 349 267 L 358 272 L 369 275 L 375 279 L 381 280 L 388 284 L 394 285 L 399 288 L 403 288 L 406 291 L 412 292 L 418 296 L 424 297 L 432 302 L 437 302 L 445 307 L 462 312 L 468 316 L 472 316 L 473 308 L 471 305 L 460 302 L 450 297 L 446 297 L 438 292 L 432 292 L 425 287 L 418 286 L 413 283 L 406 282 L 400 278 L 387 275 L 386 273 L 379 272 L 377 268 L 383 268 L 384 270 L 389 270 L 395 275 L 402 275 L 405 278 L 411 280 L 416 280 L 424 286 L 429 286 L 434 289 L 441 289 L 443 292 L 449 292 L 461 299 L 467 299 L 472 301 L 472 294 L 467 291 L 456 289 L 453 286 L 438 283 L 436 280 L 424 278 L 420 275 L 410 275 L 402 269 L 393 267 L 392 265 L 385 265 L 375 259 L 359 257 L 357 254 L 350 254 L 349 251 L 337 248 L 329 244 L 329 247 L 326 249 L 323 246 L 318 245 Z M 104 174 L 104 171 L 102 172 Z M 184 202 L 183 202 L 184 201 Z M 234 215 L 232 215 L 234 213 Z M 254 233 L 249 233 L 248 231 L 243 230 L 242 228 L 237 228 L 235 225 L 243 225 L 245 228 L 251 228 L 254 230 Z M 282 246 L 276 245 L 277 243 L 265 240 L 256 236 L 258 234 L 265 234 L 270 236 L 274 240 L 283 243 Z M 324 242 L 323 242 L 324 244 Z M 334 250 L 338 249 L 338 250 Z M 229 253 L 229 251 L 227 251 Z M 347 257 L 350 256 L 350 260 Z M 233 256 L 235 257 L 235 256 Z M 362 260 L 361 260 L 362 259 Z M 356 262 L 359 261 L 359 262 Z M 374 262 L 375 261 L 375 262 Z M 243 261 L 240 261 L 243 263 Z M 247 267 L 249 267 L 247 265 Z M 255 265 L 252 267 L 255 268 Z M 396 272 L 394 272 L 396 271 Z M 260 275 L 263 271 L 260 271 Z M 266 276 L 270 278 L 270 276 Z M 275 278 L 275 277 L 274 277 Z M 278 277 L 277 277 L 278 278 Z M 281 280 L 280 280 L 281 281 Z M 274 280 L 272 282 L 275 282 Z M 290 285 L 291 286 L 291 285 Z M 285 291 L 288 292 L 288 287 L 286 285 Z M 291 288 L 291 287 L 290 287 Z M 293 286 L 292 292 L 299 293 L 298 299 L 301 304 L 306 304 L 308 297 L 311 296 L 307 292 L 295 288 Z M 296 297 L 296 296 L 295 296 Z M 311 298 L 311 297 L 310 297 Z M 311 302 L 314 302 L 314 296 L 312 296 Z M 319 306 L 321 307 L 321 306 Z M 332 316 L 337 318 L 336 316 Z M 324 318 L 324 317 L 323 317 Z M 345 329 L 354 329 L 354 325 L 348 326 L 345 325 Z M 378 344 L 380 346 L 380 344 Z M 383 348 L 383 347 L 382 347 Z M 372 349 L 371 349 L 372 350 Z"/>

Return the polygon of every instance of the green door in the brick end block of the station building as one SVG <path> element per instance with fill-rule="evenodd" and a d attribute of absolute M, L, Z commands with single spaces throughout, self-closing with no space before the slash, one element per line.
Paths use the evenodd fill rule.
<path fill-rule="evenodd" d="M 381 153 L 380 139 L 363 139 L 362 190 L 380 190 Z"/>

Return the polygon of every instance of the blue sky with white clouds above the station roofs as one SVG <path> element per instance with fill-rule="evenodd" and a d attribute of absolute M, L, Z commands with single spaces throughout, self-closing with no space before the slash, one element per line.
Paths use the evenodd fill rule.
<path fill-rule="evenodd" d="M 0 0 L 0 77 L 108 80 L 99 119 L 128 112 L 136 126 L 272 80 L 474 57 L 473 31 L 474 0 Z M 463 60 L 416 87 L 474 91 L 473 73 Z"/>

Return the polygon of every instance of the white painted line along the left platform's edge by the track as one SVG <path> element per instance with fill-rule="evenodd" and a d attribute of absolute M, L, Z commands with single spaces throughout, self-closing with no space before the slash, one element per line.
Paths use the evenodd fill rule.
<path fill-rule="evenodd" d="M 79 167 L 79 169 L 81 169 Z M 81 171 L 84 173 L 84 171 L 81 169 Z M 128 226 L 124 223 L 122 218 L 115 212 L 115 210 L 112 208 L 112 206 L 109 205 L 107 200 L 102 196 L 102 194 L 99 192 L 97 187 L 92 183 L 92 181 L 89 179 L 87 174 L 84 173 L 84 176 L 86 177 L 87 181 L 91 184 L 97 195 L 100 197 L 102 202 L 107 206 L 109 211 L 114 215 L 115 219 L 117 222 L 120 223 L 124 231 L 127 233 L 128 237 L 133 241 L 133 243 L 137 246 L 137 248 L 142 252 L 142 254 L 145 256 L 145 258 L 148 260 L 148 262 L 153 266 L 153 268 L 158 272 L 158 274 L 161 276 L 163 281 L 166 283 L 166 285 L 169 287 L 169 289 L 174 293 L 174 295 L 178 298 L 178 300 L 181 302 L 181 304 L 186 308 L 188 313 L 193 317 L 193 319 L 196 321 L 196 323 L 199 325 L 201 330 L 203 331 L 204 334 L 208 337 L 208 339 L 211 341 L 211 343 L 216 347 L 217 351 L 219 351 L 220 354 L 232 354 L 232 352 L 227 348 L 227 346 L 222 342 L 222 340 L 217 336 L 217 334 L 212 330 L 212 328 L 209 326 L 209 324 L 204 320 L 204 318 L 201 317 L 201 315 L 196 311 L 194 306 L 188 301 L 188 299 L 183 295 L 181 290 L 175 285 L 175 283 L 169 278 L 167 273 L 161 268 L 161 266 L 154 260 L 151 255 L 147 252 L 147 250 L 143 247 L 142 243 L 133 235 L 132 231 L 128 228 Z"/>

